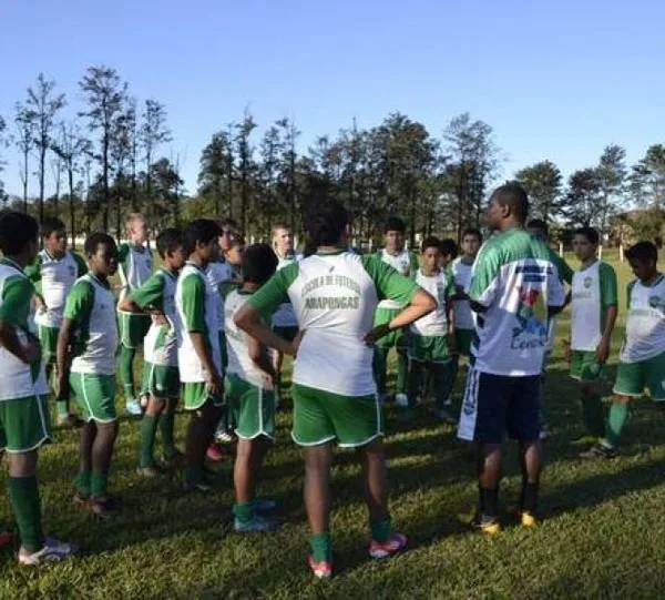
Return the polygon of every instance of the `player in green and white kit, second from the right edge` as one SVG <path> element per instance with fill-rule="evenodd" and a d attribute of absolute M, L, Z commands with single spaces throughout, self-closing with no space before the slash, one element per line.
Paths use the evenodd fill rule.
<path fill-rule="evenodd" d="M 603 436 L 603 403 L 595 388 L 610 357 L 612 332 L 617 313 L 616 273 L 596 258 L 598 233 L 581 227 L 573 234 L 573 250 L 581 267 L 573 275 L 571 338 L 566 358 L 571 377 L 581 384 L 582 416 L 586 435 Z"/>

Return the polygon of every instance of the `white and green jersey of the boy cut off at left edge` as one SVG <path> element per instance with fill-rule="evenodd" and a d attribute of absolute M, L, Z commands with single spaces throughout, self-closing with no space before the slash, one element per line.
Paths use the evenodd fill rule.
<path fill-rule="evenodd" d="M 23 286 L 28 292 L 23 295 L 25 298 L 29 297 L 30 291 L 34 289 L 23 270 L 4 258 L 0 262 L 0 306 L 4 305 L 3 311 L 9 312 L 8 319 L 14 322 L 17 338 L 25 346 L 29 336 L 33 336 L 29 330 L 30 307 L 24 302 L 24 306 L 11 306 L 11 298 L 7 294 L 11 284 Z M 39 360 L 35 365 L 27 365 L 4 346 L 0 346 L 0 401 L 32 398 L 49 393 L 43 365 Z"/>

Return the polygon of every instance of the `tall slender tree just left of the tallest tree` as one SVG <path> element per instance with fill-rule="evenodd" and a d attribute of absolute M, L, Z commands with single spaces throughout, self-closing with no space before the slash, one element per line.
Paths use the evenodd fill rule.
<path fill-rule="evenodd" d="M 47 153 L 53 145 L 52 131 L 58 113 L 65 105 L 64 94 L 54 93 L 55 81 L 48 81 L 43 73 L 37 78 L 37 84 L 28 88 L 25 100 L 27 116 L 34 129 L 34 146 L 39 155 L 39 220 L 44 217 L 44 175 Z"/>

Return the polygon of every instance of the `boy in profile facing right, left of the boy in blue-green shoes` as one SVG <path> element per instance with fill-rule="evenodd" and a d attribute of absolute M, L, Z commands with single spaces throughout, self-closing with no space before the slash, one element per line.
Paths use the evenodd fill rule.
<path fill-rule="evenodd" d="M 185 489 L 209 491 L 203 464 L 219 421 L 223 404 L 224 367 L 219 350 L 219 294 L 209 284 L 205 270 L 219 252 L 221 230 L 214 221 L 197 218 L 183 231 L 185 255 L 175 288 L 177 366 L 183 384 L 190 426 L 185 448 Z"/>

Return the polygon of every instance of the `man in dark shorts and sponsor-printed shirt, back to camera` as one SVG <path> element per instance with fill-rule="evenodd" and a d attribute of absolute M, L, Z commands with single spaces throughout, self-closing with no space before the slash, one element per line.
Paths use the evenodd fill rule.
<path fill-rule="evenodd" d="M 498 497 L 507 433 L 520 443 L 522 525 L 536 522 L 541 370 L 549 318 L 565 301 L 546 245 L 524 230 L 528 211 L 526 192 L 520 185 L 493 192 L 488 224 L 500 233 L 481 247 L 467 289 L 477 329 L 458 437 L 477 444 L 474 525 L 487 533 L 501 528 Z"/>

